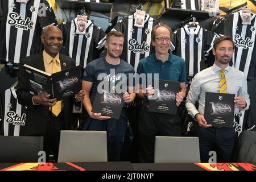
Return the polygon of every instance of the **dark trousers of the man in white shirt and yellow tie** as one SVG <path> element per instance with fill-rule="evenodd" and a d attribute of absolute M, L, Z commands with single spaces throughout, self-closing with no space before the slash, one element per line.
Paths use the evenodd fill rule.
<path fill-rule="evenodd" d="M 195 123 L 195 137 L 199 137 L 201 163 L 208 163 L 210 151 L 215 151 L 217 163 L 229 163 L 232 157 L 236 131 L 228 127 L 200 127 Z"/>

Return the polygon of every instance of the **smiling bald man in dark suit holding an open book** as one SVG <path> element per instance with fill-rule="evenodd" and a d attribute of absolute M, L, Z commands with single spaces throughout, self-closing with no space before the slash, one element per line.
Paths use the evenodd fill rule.
<path fill-rule="evenodd" d="M 71 130 L 72 105 L 80 104 L 84 100 L 84 92 L 80 90 L 74 97 L 65 98 L 56 102 L 56 98 L 49 99 L 50 94 L 40 93 L 33 95 L 28 90 L 29 80 L 24 72 L 23 65 L 27 64 L 47 73 L 75 67 L 75 60 L 59 54 L 63 45 L 63 38 L 59 28 L 47 26 L 44 28 L 41 41 L 44 44 L 43 53 L 32 55 L 20 60 L 19 82 L 16 90 L 18 102 L 27 106 L 26 126 L 24 133 L 30 136 L 44 137 L 44 151 L 47 157 L 53 151 L 55 161 L 59 150 L 60 130 Z M 53 111 L 57 108 L 57 112 Z"/>

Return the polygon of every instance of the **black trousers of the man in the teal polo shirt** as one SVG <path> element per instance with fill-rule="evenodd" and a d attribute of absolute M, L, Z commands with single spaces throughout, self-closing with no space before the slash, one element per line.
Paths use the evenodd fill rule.
<path fill-rule="evenodd" d="M 138 121 L 141 163 L 154 163 L 155 136 L 181 136 L 181 121 L 177 114 L 151 113 L 146 106 L 142 106 Z"/>

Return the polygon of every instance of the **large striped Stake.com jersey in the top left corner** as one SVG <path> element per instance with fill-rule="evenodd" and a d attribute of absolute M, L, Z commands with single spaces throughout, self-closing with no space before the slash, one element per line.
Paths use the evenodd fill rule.
<path fill-rule="evenodd" d="M 42 28 L 57 24 L 55 14 L 46 0 L 15 0 L 2 2 L 2 35 L 0 60 L 19 63 L 19 60 L 40 52 Z"/>

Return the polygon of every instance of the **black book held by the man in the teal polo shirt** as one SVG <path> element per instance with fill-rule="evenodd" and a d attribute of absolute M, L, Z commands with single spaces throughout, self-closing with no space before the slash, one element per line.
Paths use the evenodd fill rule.
<path fill-rule="evenodd" d="M 176 93 L 179 92 L 180 82 L 159 80 L 159 89 L 154 80 L 154 98 L 149 99 L 148 111 L 154 113 L 176 114 Z"/>

